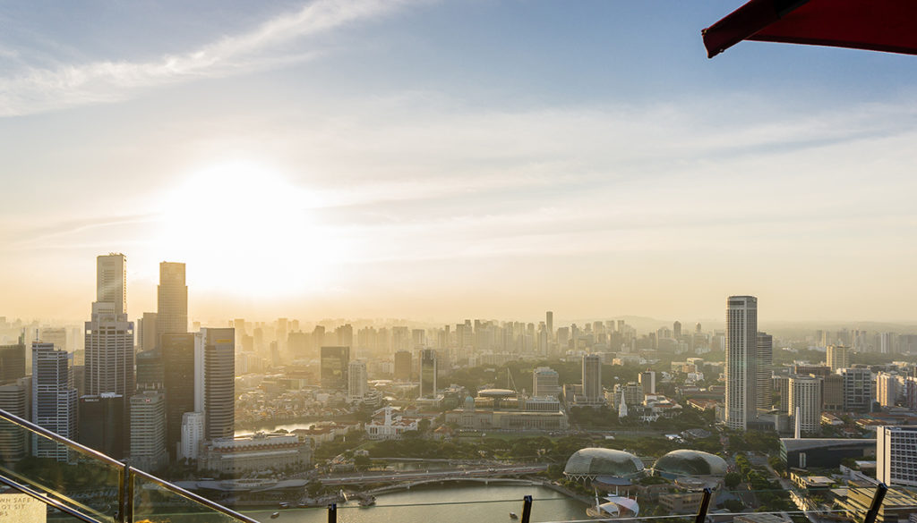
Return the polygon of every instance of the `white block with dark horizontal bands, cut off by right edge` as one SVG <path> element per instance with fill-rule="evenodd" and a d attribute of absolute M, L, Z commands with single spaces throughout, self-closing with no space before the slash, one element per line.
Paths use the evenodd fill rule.
<path fill-rule="evenodd" d="M 917 486 L 917 426 L 878 427 L 876 479 L 889 486 Z"/>

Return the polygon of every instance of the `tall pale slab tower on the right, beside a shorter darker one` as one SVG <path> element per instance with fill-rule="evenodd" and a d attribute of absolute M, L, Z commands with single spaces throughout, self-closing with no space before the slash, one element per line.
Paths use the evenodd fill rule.
<path fill-rule="evenodd" d="M 746 430 L 757 410 L 757 298 L 726 300 L 726 426 Z"/>

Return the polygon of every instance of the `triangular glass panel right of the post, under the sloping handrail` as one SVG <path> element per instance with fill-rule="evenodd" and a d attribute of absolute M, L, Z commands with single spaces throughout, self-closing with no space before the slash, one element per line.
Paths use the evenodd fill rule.
<path fill-rule="evenodd" d="M 146 477 L 135 475 L 133 482 L 134 521 L 136 523 L 238 523 L 240 521 L 238 518 L 223 514 L 167 489 Z"/>

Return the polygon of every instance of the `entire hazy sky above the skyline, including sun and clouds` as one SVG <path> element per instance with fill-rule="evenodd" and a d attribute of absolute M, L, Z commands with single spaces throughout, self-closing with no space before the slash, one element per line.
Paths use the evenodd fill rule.
<path fill-rule="evenodd" d="M 0 315 L 913 320 L 917 57 L 741 3 L 5 2 Z"/>

